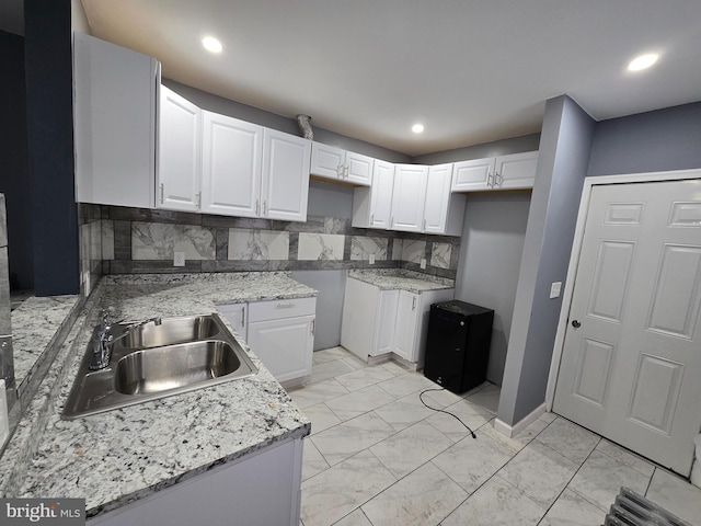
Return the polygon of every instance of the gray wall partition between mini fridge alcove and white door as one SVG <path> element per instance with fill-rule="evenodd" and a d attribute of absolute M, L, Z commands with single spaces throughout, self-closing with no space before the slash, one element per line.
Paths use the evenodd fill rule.
<path fill-rule="evenodd" d="M 548 101 L 497 414 L 508 425 L 545 400 L 562 307 L 550 285 L 564 286 L 594 133 L 572 99 Z"/>

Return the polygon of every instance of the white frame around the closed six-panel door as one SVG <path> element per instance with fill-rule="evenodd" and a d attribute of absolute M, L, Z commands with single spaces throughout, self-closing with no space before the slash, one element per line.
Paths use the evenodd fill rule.
<path fill-rule="evenodd" d="M 689 179 L 701 179 L 701 169 L 676 170 L 670 172 L 630 173 L 623 175 L 601 175 L 584 179 L 582 201 L 579 202 L 577 224 L 574 230 L 572 254 L 570 255 L 570 265 L 567 266 L 567 275 L 565 277 L 565 288 L 562 295 L 562 308 L 560 309 L 558 332 L 555 333 L 555 343 L 553 345 L 552 361 L 550 363 L 550 375 L 548 376 L 548 387 L 545 389 L 545 407 L 548 411 L 552 411 L 552 404 L 555 398 L 555 385 L 558 384 L 558 374 L 560 373 L 560 363 L 562 352 L 564 350 L 567 319 L 570 317 L 570 309 L 572 308 L 572 293 L 574 291 L 575 276 L 577 273 L 577 266 L 579 265 L 579 254 L 582 252 L 582 242 L 584 241 L 584 226 L 589 210 L 591 188 L 595 185 L 604 184 L 650 183 L 660 181 L 683 181 Z"/>

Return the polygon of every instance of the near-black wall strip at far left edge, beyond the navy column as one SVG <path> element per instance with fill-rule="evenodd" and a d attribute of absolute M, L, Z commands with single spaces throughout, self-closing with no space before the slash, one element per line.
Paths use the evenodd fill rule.
<path fill-rule="evenodd" d="M 13 289 L 32 289 L 32 186 L 26 136 L 24 37 L 0 31 L 0 193 L 4 193 L 7 199 L 10 281 Z"/>

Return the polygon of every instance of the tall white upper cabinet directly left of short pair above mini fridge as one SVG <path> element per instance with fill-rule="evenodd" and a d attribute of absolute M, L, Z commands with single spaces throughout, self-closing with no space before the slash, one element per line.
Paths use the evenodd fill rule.
<path fill-rule="evenodd" d="M 464 216 L 464 195 L 451 194 L 452 163 L 428 168 L 424 233 L 460 236 Z"/>

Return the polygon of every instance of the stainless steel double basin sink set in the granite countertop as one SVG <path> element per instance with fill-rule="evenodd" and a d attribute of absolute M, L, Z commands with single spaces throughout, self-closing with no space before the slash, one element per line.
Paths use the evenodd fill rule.
<path fill-rule="evenodd" d="M 93 331 L 61 418 L 72 420 L 257 373 L 218 315 L 112 325 L 110 365 L 91 370 Z M 126 333 L 126 334 L 125 334 Z"/>

